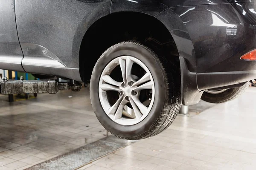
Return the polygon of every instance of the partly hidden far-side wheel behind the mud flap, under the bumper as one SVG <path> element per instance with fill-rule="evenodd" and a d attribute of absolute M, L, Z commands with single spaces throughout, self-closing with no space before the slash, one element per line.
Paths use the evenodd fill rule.
<path fill-rule="evenodd" d="M 204 92 L 201 99 L 209 103 L 228 102 L 230 100 L 236 99 L 238 96 L 243 94 L 244 91 L 246 91 L 246 89 L 249 87 L 249 85 L 250 85 L 250 82 L 246 83 L 242 87 L 230 88 L 219 94 L 210 94 L 210 93 Z"/>

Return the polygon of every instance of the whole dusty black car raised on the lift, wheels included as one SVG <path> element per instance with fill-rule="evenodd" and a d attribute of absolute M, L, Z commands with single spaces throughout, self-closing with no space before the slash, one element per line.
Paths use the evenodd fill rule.
<path fill-rule="evenodd" d="M 97 118 L 124 139 L 256 78 L 256 0 L 0 0 L 0 16 L 1 69 L 90 80 Z"/>

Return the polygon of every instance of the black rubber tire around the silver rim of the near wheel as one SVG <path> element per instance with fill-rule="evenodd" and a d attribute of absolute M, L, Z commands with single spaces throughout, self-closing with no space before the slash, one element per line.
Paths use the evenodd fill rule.
<path fill-rule="evenodd" d="M 101 96 L 100 89 L 102 88 L 102 86 L 99 85 L 99 82 L 101 81 L 101 76 L 104 73 L 104 69 L 105 67 L 107 67 L 107 65 L 111 64 L 111 61 L 114 61 L 114 59 L 116 59 L 117 57 L 119 57 L 120 59 L 120 56 L 122 57 L 128 56 L 128 58 L 131 58 L 131 59 L 135 58 L 134 61 L 135 60 L 137 61 L 138 59 L 143 64 L 145 64 L 146 67 L 148 68 L 148 71 L 150 71 L 151 78 L 153 80 L 152 82 L 154 82 L 154 87 L 153 87 L 154 90 L 152 88 L 152 91 L 153 91 L 152 93 L 155 94 L 154 102 L 152 103 L 153 101 L 153 96 L 152 96 L 151 97 L 152 101 L 148 106 L 148 109 L 149 109 L 152 103 L 149 113 L 147 114 L 147 116 L 145 116 L 143 120 L 141 120 L 140 122 L 134 123 L 132 125 L 126 125 L 123 122 L 119 123 L 117 122 L 117 120 L 119 119 L 117 120 L 111 119 L 111 117 L 106 114 L 106 111 L 103 108 L 103 106 L 105 105 L 102 105 L 104 101 L 101 102 L 101 97 L 100 97 Z M 127 59 L 126 61 L 128 61 Z M 126 62 L 125 62 L 125 65 L 126 65 Z M 128 68 L 127 65 L 126 67 Z M 120 68 L 120 65 L 119 65 L 119 68 Z M 132 68 L 134 69 L 134 66 L 132 66 Z M 137 73 L 139 73 L 139 71 L 137 71 Z M 134 82 L 134 84 L 135 83 L 136 82 Z M 145 85 L 145 84 L 142 84 L 142 85 Z M 103 91 L 103 93 L 105 92 Z M 121 96 L 121 94 L 122 93 L 120 93 L 119 96 Z M 126 94 L 124 94 L 124 96 L 125 95 Z M 139 98 L 141 95 L 142 95 L 142 92 L 140 91 L 140 95 L 138 95 Z M 110 133 L 122 139 L 129 139 L 129 140 L 145 139 L 150 136 L 154 136 L 154 135 L 157 135 L 158 133 L 161 133 L 163 130 L 169 127 L 169 125 L 172 124 L 175 117 L 177 116 L 177 113 L 179 112 L 180 105 L 181 105 L 180 70 L 176 68 L 175 65 L 172 65 L 172 63 L 167 62 L 167 60 L 164 59 L 163 57 L 161 58 L 158 57 L 157 54 L 155 54 L 151 49 L 140 44 L 139 42 L 131 42 L 131 41 L 120 42 L 108 48 L 108 50 L 106 50 L 96 62 L 96 65 L 93 69 L 93 73 L 90 80 L 90 98 L 91 98 L 93 110 L 97 118 L 99 119 L 99 122 Z M 125 98 L 123 98 L 123 100 L 125 100 Z M 129 104 L 132 105 L 132 101 L 134 101 L 132 97 L 129 96 L 127 100 L 129 100 L 129 103 L 127 105 Z M 111 101 L 111 99 L 109 99 L 108 101 Z M 138 105 L 134 107 L 133 106 L 134 105 L 132 105 L 132 109 L 136 114 L 135 112 L 136 109 L 134 110 L 134 108 L 136 108 L 136 106 Z M 117 111 L 114 113 L 114 116 L 117 114 Z M 124 110 L 122 110 L 121 112 L 122 116 L 123 116 L 123 113 L 124 113 Z M 140 113 L 142 113 L 142 110 L 140 110 Z M 136 116 L 137 115 L 138 115 L 138 111 Z M 143 116 L 140 119 L 142 118 Z M 120 120 L 121 119 L 125 119 L 127 120 L 127 122 L 133 120 L 133 119 L 130 120 L 123 117 L 120 118 Z"/>

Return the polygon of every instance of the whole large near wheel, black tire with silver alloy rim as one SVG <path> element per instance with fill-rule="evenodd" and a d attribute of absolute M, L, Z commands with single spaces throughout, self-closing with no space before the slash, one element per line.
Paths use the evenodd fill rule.
<path fill-rule="evenodd" d="M 165 130 L 180 109 L 180 72 L 139 42 L 113 45 L 98 59 L 90 97 L 112 134 L 137 140 Z"/>

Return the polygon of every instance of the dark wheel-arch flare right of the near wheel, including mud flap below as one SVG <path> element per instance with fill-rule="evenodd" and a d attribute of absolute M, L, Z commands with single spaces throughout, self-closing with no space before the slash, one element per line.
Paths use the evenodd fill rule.
<path fill-rule="evenodd" d="M 155 16 L 172 34 L 180 55 L 181 98 L 183 105 L 194 105 L 201 99 L 198 90 L 196 58 L 192 40 L 182 20 L 168 8 Z"/>

